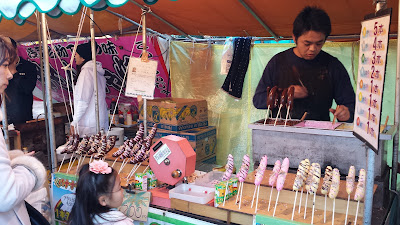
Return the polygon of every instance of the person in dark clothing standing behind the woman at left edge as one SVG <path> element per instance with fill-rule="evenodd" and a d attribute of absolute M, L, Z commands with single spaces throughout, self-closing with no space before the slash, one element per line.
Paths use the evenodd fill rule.
<path fill-rule="evenodd" d="M 14 50 L 18 53 L 17 42 L 10 38 Z M 39 71 L 35 64 L 18 56 L 10 63 L 13 79 L 9 81 L 6 92 L 6 107 L 8 123 L 25 123 L 32 120 L 32 91 L 36 87 Z"/>

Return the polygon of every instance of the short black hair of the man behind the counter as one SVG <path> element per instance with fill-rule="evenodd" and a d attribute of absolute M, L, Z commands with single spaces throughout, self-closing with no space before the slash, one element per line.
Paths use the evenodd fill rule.
<path fill-rule="evenodd" d="M 331 20 L 328 14 L 315 6 L 305 7 L 293 22 L 293 35 L 297 40 L 308 31 L 325 34 L 325 39 L 331 34 Z"/>

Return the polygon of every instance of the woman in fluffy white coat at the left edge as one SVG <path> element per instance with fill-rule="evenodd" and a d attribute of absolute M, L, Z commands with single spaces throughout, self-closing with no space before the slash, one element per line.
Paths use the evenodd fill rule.
<path fill-rule="evenodd" d="M 13 77 L 8 65 L 16 55 L 11 49 L 10 39 L 0 36 L 0 94 Z M 30 225 L 24 199 L 42 187 L 46 170 L 39 160 L 20 150 L 9 153 L 0 130 L 0 224 Z"/>

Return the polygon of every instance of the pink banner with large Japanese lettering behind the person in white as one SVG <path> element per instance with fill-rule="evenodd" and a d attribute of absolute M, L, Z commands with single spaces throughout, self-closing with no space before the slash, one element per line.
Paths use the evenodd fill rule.
<path fill-rule="evenodd" d="M 96 39 L 99 48 L 97 49 L 96 60 L 102 63 L 105 69 L 105 78 L 107 80 L 107 103 L 110 103 L 112 98 L 117 98 L 118 93 L 121 89 L 123 83 L 124 75 L 128 68 L 129 57 L 131 55 L 131 50 L 133 47 L 133 42 L 135 36 L 130 37 L 119 37 L 119 38 L 104 38 Z M 88 40 L 80 41 L 81 43 L 86 43 Z M 54 49 L 59 55 L 61 61 L 57 58 L 56 54 L 52 51 L 51 45 L 48 46 L 49 57 L 50 57 L 50 77 L 51 77 L 51 87 L 52 87 L 52 98 L 56 102 L 69 101 L 68 98 L 68 88 L 72 93 L 71 76 L 68 75 L 68 82 L 65 75 L 63 66 L 69 64 L 71 60 L 71 55 L 74 47 L 74 42 L 57 42 L 53 43 Z M 133 49 L 132 57 L 140 57 L 143 50 L 142 36 L 137 36 L 136 44 Z M 162 57 L 166 52 L 161 52 L 158 46 L 156 37 L 147 38 L 147 51 L 149 53 L 149 59 L 158 61 L 157 75 L 155 81 L 155 97 L 169 97 L 170 96 L 170 82 L 168 72 Z M 168 51 L 168 49 L 166 50 Z M 37 70 L 40 68 L 40 57 L 39 57 L 39 47 L 38 45 L 21 45 L 18 49 L 19 55 L 33 62 L 37 66 Z M 77 74 L 75 69 L 75 62 L 73 64 L 72 70 L 67 73 L 72 73 L 73 79 L 76 81 Z M 58 76 L 58 74 L 60 76 Z M 34 91 L 34 96 L 38 99 L 42 99 L 42 85 L 41 85 L 40 73 L 38 72 L 38 79 L 36 83 L 36 89 Z M 125 86 L 122 89 L 120 103 L 132 103 L 137 106 L 136 98 L 126 97 Z M 72 94 L 71 94 L 71 98 Z"/>

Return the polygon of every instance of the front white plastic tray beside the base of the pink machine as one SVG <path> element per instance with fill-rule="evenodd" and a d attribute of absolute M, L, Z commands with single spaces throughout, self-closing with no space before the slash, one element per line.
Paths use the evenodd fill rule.
<path fill-rule="evenodd" d="M 214 188 L 194 184 L 181 184 L 169 191 L 169 197 L 198 204 L 207 204 L 214 198 Z"/>

